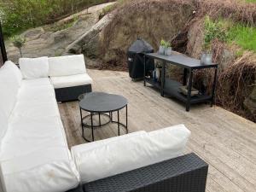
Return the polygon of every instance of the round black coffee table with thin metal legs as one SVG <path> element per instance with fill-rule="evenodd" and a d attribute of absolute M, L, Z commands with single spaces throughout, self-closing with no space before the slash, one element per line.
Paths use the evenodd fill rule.
<path fill-rule="evenodd" d="M 87 142 L 94 141 L 94 129 L 102 127 L 103 125 L 108 125 L 109 123 L 115 123 L 118 125 L 118 133 L 120 135 L 120 126 L 125 128 L 126 133 L 128 133 L 128 101 L 124 96 L 108 94 L 104 92 L 90 92 L 86 93 L 83 96 L 79 96 L 79 107 L 80 107 L 80 117 L 82 125 L 82 137 L 84 137 L 84 128 L 91 129 L 90 141 L 88 138 L 84 137 L 84 140 Z M 119 110 L 125 108 L 125 124 L 120 122 L 119 119 Z M 83 117 L 82 110 L 89 112 L 90 114 Z M 117 112 L 117 121 L 113 120 L 113 113 Z M 98 124 L 93 123 L 93 117 L 98 116 Z M 108 118 L 108 121 L 103 123 L 101 122 L 101 117 L 105 116 Z M 90 119 L 90 123 L 86 123 L 86 119 Z"/>

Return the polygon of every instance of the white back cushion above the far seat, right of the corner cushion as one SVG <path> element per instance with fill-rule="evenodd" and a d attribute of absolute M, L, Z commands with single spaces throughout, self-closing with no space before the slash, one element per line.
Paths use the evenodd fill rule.
<path fill-rule="evenodd" d="M 49 76 L 69 76 L 86 73 L 84 55 L 49 57 Z"/>

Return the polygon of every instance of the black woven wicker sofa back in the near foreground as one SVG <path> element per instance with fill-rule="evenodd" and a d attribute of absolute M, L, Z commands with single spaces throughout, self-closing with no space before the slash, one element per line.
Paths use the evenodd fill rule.
<path fill-rule="evenodd" d="M 208 165 L 185 154 L 131 172 L 85 183 L 68 192 L 205 192 Z"/>

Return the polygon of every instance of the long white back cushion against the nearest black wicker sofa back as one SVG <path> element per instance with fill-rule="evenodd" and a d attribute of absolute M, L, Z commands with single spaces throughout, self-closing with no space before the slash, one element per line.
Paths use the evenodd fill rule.
<path fill-rule="evenodd" d="M 112 140 L 93 148 L 72 148 L 81 182 L 88 183 L 183 154 L 190 131 L 184 125 Z M 79 147 L 81 148 L 81 146 Z"/>

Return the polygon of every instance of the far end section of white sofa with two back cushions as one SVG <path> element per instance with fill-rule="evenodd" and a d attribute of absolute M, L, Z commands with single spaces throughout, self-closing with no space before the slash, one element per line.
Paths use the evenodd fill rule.
<path fill-rule="evenodd" d="M 84 55 L 20 58 L 19 64 L 24 79 L 49 78 L 57 102 L 77 100 L 80 94 L 91 91 Z"/>

